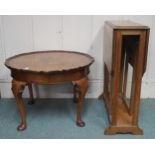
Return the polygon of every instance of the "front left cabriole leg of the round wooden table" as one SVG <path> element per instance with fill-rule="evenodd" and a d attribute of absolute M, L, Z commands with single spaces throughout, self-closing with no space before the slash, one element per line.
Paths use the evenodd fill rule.
<path fill-rule="evenodd" d="M 26 113 L 24 109 L 24 102 L 22 99 L 22 93 L 23 93 L 25 86 L 26 86 L 25 82 L 12 80 L 12 92 L 15 96 L 17 106 L 19 108 L 19 112 L 21 115 L 21 123 L 17 127 L 17 130 L 19 131 L 22 131 L 26 128 Z"/>

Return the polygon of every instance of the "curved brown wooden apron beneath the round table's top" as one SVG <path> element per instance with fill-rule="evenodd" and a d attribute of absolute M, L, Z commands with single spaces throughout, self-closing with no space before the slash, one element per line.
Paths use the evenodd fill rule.
<path fill-rule="evenodd" d="M 35 73 L 35 72 L 11 70 L 11 76 L 13 79 L 38 84 L 76 81 L 82 79 L 83 77 L 86 77 L 88 74 L 89 74 L 89 67 L 85 67 L 80 70 L 73 70 L 67 72 L 64 71 L 56 73 L 42 73 L 42 72 Z"/>

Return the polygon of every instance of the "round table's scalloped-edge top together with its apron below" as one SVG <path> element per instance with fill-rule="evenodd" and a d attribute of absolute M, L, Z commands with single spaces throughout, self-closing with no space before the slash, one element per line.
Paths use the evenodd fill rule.
<path fill-rule="evenodd" d="M 57 50 L 15 55 L 8 58 L 5 65 L 14 79 L 44 84 L 72 81 L 72 76 L 73 80 L 81 79 L 89 73 L 93 62 L 88 54 Z"/>

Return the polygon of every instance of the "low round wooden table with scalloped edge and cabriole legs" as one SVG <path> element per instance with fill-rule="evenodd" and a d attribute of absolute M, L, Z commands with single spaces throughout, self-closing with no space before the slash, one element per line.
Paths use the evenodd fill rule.
<path fill-rule="evenodd" d="M 35 51 L 23 53 L 5 61 L 5 65 L 11 70 L 12 92 L 15 96 L 21 123 L 17 127 L 19 131 L 26 128 L 26 112 L 22 93 L 28 86 L 30 104 L 34 103 L 32 83 L 52 84 L 60 82 L 72 82 L 74 101 L 77 103 L 76 124 L 83 127 L 85 123 L 81 119 L 81 111 L 84 97 L 88 88 L 89 66 L 94 59 L 84 53 L 73 51 Z"/>

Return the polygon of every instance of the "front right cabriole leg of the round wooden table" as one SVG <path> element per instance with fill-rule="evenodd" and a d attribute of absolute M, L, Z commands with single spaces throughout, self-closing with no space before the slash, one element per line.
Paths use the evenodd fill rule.
<path fill-rule="evenodd" d="M 77 104 L 76 124 L 80 127 L 83 127 L 83 126 L 85 126 L 85 122 L 82 121 L 82 119 L 81 119 L 81 111 L 82 111 L 83 104 L 84 104 L 84 97 L 85 97 L 85 94 L 88 89 L 88 78 L 85 77 L 78 81 L 74 81 L 73 83 L 74 83 L 74 85 L 76 85 L 76 87 L 78 89 L 78 93 L 79 93 L 78 104 Z"/>

